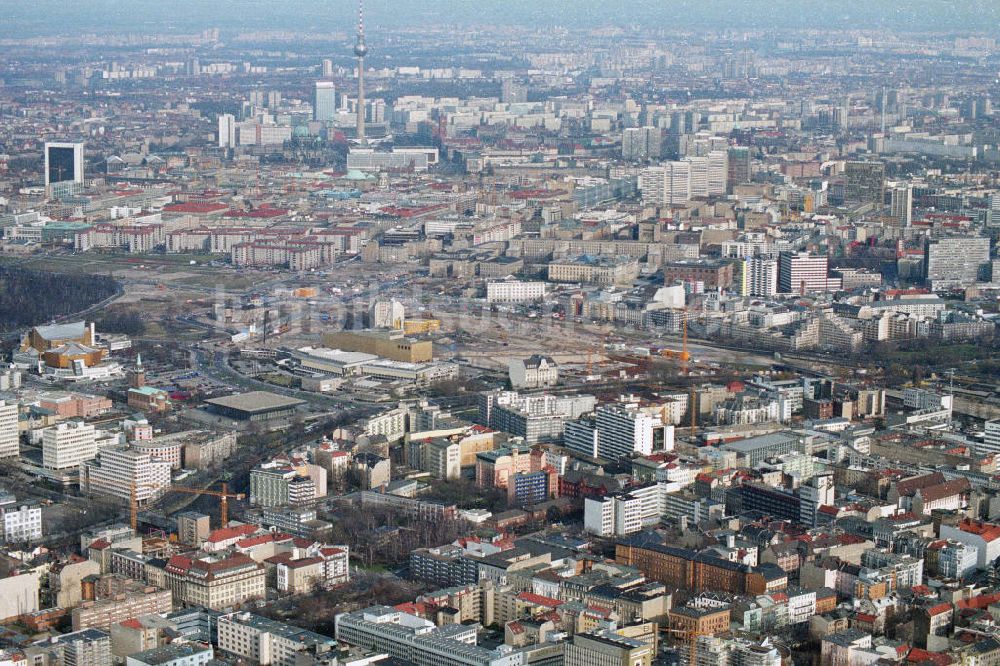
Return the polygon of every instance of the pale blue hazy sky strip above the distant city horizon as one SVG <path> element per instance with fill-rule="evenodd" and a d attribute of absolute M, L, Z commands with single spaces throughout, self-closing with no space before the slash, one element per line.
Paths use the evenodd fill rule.
<path fill-rule="evenodd" d="M 355 0 L 0 0 L 0 38 L 74 31 L 335 30 Z M 1000 32 L 1000 0 L 367 0 L 373 25 L 503 23 Z"/>

